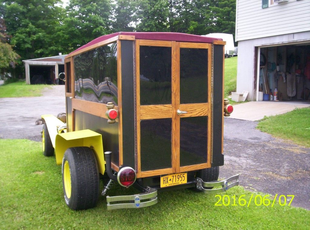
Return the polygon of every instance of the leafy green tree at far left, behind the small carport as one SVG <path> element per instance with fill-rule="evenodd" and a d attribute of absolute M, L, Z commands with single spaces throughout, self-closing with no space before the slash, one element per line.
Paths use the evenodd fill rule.
<path fill-rule="evenodd" d="M 64 9 L 59 0 L 2 1 L 2 16 L 7 24 L 10 44 L 20 55 L 15 77 L 24 74 L 21 60 L 58 55 L 55 27 L 59 26 Z"/>

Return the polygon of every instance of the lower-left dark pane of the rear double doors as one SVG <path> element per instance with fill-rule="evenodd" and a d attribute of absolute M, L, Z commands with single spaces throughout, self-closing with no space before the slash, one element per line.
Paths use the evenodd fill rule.
<path fill-rule="evenodd" d="M 171 168 L 171 118 L 142 120 L 141 170 Z"/>

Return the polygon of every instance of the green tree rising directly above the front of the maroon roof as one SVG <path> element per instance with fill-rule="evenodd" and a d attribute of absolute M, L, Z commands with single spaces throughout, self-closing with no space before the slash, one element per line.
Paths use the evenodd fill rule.
<path fill-rule="evenodd" d="M 66 51 L 74 51 L 87 42 L 110 32 L 108 0 L 71 0 L 67 15 L 57 29 L 57 36 Z"/>

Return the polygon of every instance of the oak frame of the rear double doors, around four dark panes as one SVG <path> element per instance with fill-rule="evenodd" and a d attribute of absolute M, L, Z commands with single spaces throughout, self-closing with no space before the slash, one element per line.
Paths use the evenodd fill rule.
<path fill-rule="evenodd" d="M 140 46 L 164 46 L 171 47 L 171 104 L 164 105 L 140 105 Z M 208 99 L 207 103 L 180 104 L 180 48 L 202 48 L 208 49 Z M 170 173 L 186 172 L 211 167 L 211 64 L 212 44 L 157 41 L 157 40 L 135 40 L 136 57 L 136 119 L 137 119 L 137 177 L 149 177 Z M 185 110 L 187 114 L 177 114 L 177 110 Z M 170 115 L 169 115 L 170 114 Z M 181 117 L 208 117 L 207 130 L 207 162 L 202 164 L 180 167 L 180 118 Z M 140 149 L 140 122 L 146 119 L 172 119 L 172 140 L 171 140 L 171 168 L 141 171 L 141 149 Z"/>

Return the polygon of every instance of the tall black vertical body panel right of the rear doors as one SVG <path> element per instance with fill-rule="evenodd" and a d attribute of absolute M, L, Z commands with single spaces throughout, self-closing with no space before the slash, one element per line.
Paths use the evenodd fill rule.
<path fill-rule="evenodd" d="M 211 167 L 224 165 L 222 154 L 223 127 L 223 46 L 214 45 L 213 52 L 213 155 Z"/>

